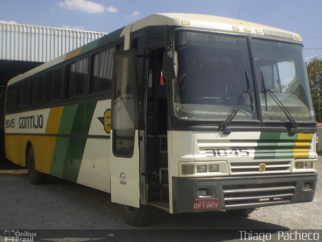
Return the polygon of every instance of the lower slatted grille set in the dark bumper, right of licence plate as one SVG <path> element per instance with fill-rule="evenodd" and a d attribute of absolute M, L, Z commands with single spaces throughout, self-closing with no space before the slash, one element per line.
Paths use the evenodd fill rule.
<path fill-rule="evenodd" d="M 261 207 L 292 201 L 295 182 L 223 186 L 224 207 Z"/>

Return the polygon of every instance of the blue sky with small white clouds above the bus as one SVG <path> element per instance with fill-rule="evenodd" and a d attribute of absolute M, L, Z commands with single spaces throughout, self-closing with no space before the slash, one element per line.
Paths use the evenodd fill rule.
<path fill-rule="evenodd" d="M 1 22 L 104 33 L 153 13 L 238 18 L 300 34 L 306 62 L 322 54 L 322 0 L 0 0 L 0 4 Z"/>

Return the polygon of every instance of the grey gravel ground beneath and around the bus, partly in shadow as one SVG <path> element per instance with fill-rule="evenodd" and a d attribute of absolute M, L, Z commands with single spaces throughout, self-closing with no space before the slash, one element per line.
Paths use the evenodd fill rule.
<path fill-rule="evenodd" d="M 150 236 L 149 238 L 155 238 L 155 233 L 162 233 L 160 232 L 162 230 L 154 229 L 188 229 L 176 230 L 176 232 L 173 230 L 170 234 L 178 236 L 180 240 L 193 241 L 195 239 L 191 236 L 191 229 L 270 229 L 275 233 L 278 230 L 322 229 L 321 156 L 318 157 L 317 167 L 318 186 L 312 203 L 260 208 L 246 218 L 230 216 L 225 212 L 173 215 L 160 211 L 156 213 L 156 219 L 150 226 L 140 228 L 153 229 L 149 230 L 150 232 L 125 231 L 131 231 L 131 233 L 135 231 L 141 236 L 144 234 L 147 237 Z M 114 232 L 111 233 L 111 238 L 116 239 L 115 234 L 118 234 L 118 239 L 115 241 L 119 241 L 122 236 L 128 236 L 130 232 L 115 229 L 133 229 L 133 227 L 125 224 L 120 217 L 117 205 L 110 201 L 110 195 L 107 193 L 64 180 L 52 179 L 49 183 L 35 186 L 29 183 L 28 176 L 24 172 L 0 173 L 0 229 L 112 229 L 111 231 Z M 96 234 L 99 236 L 100 233 Z M 170 234 L 164 233 L 168 237 Z M 208 236 L 210 234 L 207 233 Z M 239 233 L 232 234 L 234 233 L 218 234 L 217 230 L 216 240 L 213 236 L 209 239 L 239 241 L 237 239 Z M 1 236 L 2 233 L 0 233 L 0 241 L 3 239 Z M 208 241 L 204 234 L 201 236 L 204 241 Z M 321 235 L 320 237 L 322 239 Z"/>

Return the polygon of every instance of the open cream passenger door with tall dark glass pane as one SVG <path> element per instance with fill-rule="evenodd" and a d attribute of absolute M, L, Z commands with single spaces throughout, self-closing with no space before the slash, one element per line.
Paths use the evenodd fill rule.
<path fill-rule="evenodd" d="M 140 206 L 136 51 L 115 54 L 112 98 L 111 200 Z"/>

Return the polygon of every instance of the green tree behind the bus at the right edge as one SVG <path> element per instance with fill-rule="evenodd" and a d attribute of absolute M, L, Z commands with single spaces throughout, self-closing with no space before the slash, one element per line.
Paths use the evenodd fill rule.
<path fill-rule="evenodd" d="M 322 113 L 322 59 L 314 58 L 306 66 L 316 121 L 321 122 Z"/>

